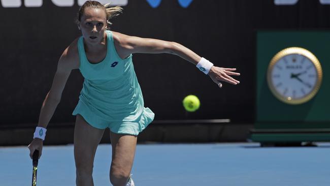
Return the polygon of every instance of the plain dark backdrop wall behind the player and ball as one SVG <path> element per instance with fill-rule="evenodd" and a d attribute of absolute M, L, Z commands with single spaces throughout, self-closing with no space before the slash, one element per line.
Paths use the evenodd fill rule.
<path fill-rule="evenodd" d="M 194 0 L 181 7 L 164 0 L 152 8 L 145 0 L 129 0 L 112 30 L 123 34 L 175 41 L 220 67 L 236 67 L 241 84 L 219 89 L 192 64 L 170 54 L 134 54 L 145 106 L 155 119 L 230 118 L 252 123 L 255 113 L 256 30 L 323 30 L 330 27 L 330 7 L 300 0 L 276 6 L 272 0 Z M 35 123 L 61 52 L 77 37 L 74 18 L 79 7 L 0 7 L 0 125 Z M 64 89 L 51 122 L 71 122 L 82 87 L 78 70 Z M 182 99 L 194 94 L 201 108 L 187 114 Z"/>

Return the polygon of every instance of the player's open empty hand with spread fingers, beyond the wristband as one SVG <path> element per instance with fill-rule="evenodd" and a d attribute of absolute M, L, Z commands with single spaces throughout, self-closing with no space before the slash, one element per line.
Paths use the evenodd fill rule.
<path fill-rule="evenodd" d="M 230 76 L 239 76 L 240 73 L 234 72 L 236 69 L 229 68 L 221 68 L 213 66 L 208 73 L 210 78 L 215 82 L 220 88 L 222 87 L 222 83 L 220 81 L 224 81 L 230 84 L 237 85 L 240 82 Z"/>

